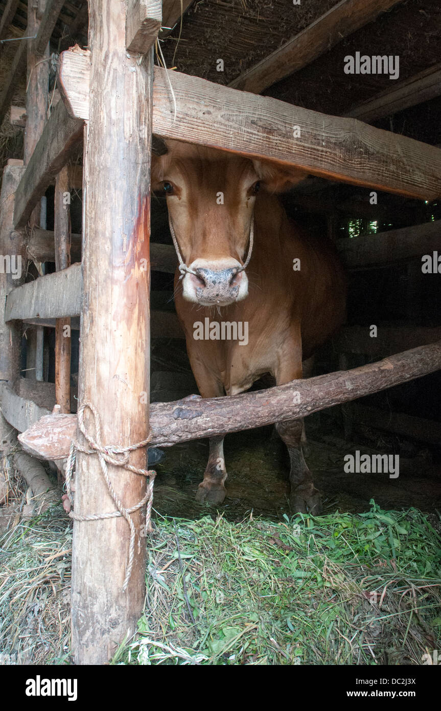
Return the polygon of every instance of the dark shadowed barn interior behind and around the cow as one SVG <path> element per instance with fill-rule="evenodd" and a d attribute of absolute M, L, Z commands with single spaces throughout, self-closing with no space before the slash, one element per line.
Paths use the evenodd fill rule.
<path fill-rule="evenodd" d="M 179 3 L 178 3 L 179 4 Z M 160 31 L 156 63 L 221 85 L 249 88 L 289 104 L 334 116 L 352 116 L 394 134 L 441 144 L 441 8 L 436 0 L 371 2 L 351 27 L 328 28 L 327 46 L 317 56 L 300 51 L 288 58 L 283 77 L 273 80 L 263 64 L 292 38 L 310 32 L 337 4 L 329 0 L 183 0 L 182 21 Z M 23 36 L 24 2 L 0 2 L 0 40 Z M 8 15 L 9 13 L 9 15 Z M 312 28 L 312 29 L 311 29 Z M 318 35 L 317 35 L 318 36 Z M 0 82 L 9 85 L 19 42 L 0 46 Z M 57 56 L 68 48 L 87 47 L 87 2 L 62 4 L 50 38 L 50 90 L 57 90 Z M 318 44 L 318 41 L 317 41 Z M 399 57 L 399 77 L 344 73 L 344 58 L 356 52 Z M 219 61 L 222 70 L 219 71 Z M 280 62 L 283 65 L 283 61 Z M 23 155 L 24 65 L 14 68 L 9 100 L 2 102 L 2 168 Z M 16 107 L 13 114 L 10 105 Z M 17 109 L 18 107 L 18 109 Z M 82 230 L 82 153 L 70 164 L 72 262 L 80 261 Z M 381 166 L 380 166 L 381 167 Z M 334 242 L 348 275 L 347 323 L 317 354 L 315 375 L 347 370 L 440 338 L 440 274 L 423 273 L 423 255 L 441 247 L 441 203 L 366 187 L 309 177 L 281 199 L 290 216 L 307 230 Z M 54 188 L 46 192 L 44 230 L 54 229 Z M 30 236 L 32 256 L 27 281 L 55 272 L 47 240 Z M 165 245 L 151 272 L 151 401 L 178 400 L 197 392 L 185 341 L 173 304 L 173 245 L 163 196 L 153 196 L 151 241 Z M 43 244 L 44 242 L 44 244 Z M 33 250 L 33 251 L 32 251 Z M 50 250 L 49 250 L 50 251 Z M 155 252 L 156 253 L 156 252 Z M 440 249 L 441 254 L 441 249 Z M 165 256 L 166 255 L 166 256 Z M 440 267 L 441 269 L 441 267 Z M 370 328 L 378 329 L 371 338 Z M 23 392 L 41 407 L 52 407 L 53 391 L 38 383 L 55 382 L 55 323 L 28 323 L 23 336 Z M 75 330 L 76 328 L 76 330 Z M 72 320 L 71 405 L 76 407 L 78 324 Z M 43 334 L 43 337 L 42 337 Z M 254 388 L 265 383 L 256 383 Z M 337 405 L 307 418 L 306 459 L 324 494 L 325 511 L 369 509 L 374 500 L 386 508 L 415 506 L 435 513 L 441 504 L 440 373 L 390 390 Z M 398 479 L 385 474 L 347 474 L 345 454 L 399 454 Z M 158 464 L 155 508 L 161 515 L 198 517 L 205 510 L 194 501 L 207 461 L 205 440 L 166 449 Z M 288 455 L 273 427 L 229 434 L 229 480 L 224 515 L 239 520 L 254 515 L 280 518 L 288 513 Z"/>

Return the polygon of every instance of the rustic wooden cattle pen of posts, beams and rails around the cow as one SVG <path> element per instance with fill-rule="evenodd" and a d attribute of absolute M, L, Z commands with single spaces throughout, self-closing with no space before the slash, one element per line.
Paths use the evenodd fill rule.
<path fill-rule="evenodd" d="M 215 0 L 207 5 L 207 11 L 225 10 Z M 232 7 L 239 12 L 239 5 L 246 20 L 251 10 L 239 0 Z M 263 15 L 271 14 L 271 8 L 258 5 Z M 300 12 L 295 3 L 285 5 L 290 16 Z M 430 1 L 317 1 L 315 16 L 305 15 L 290 41 L 278 37 L 271 44 L 268 36 L 271 53 L 267 48 L 253 55 L 252 63 L 236 66 L 229 77 L 219 46 L 213 68 L 202 71 L 201 64 L 197 70 L 190 46 L 191 38 L 197 42 L 204 3 L 28 0 L 27 19 L 23 7 L 26 11 L 14 0 L 1 3 L 0 40 L 12 35 L 16 41 L 8 49 L 0 118 L 10 112 L 7 120 L 24 129 L 24 139 L 23 159 L 5 156 L 1 183 L 0 255 L 4 265 L 6 257 L 10 261 L 0 274 L 0 439 L 6 453 L 16 443 L 11 428 L 19 433 L 23 451 L 14 450 L 16 464 L 33 477 L 35 490 L 28 486 L 45 503 L 56 499 L 56 489 L 48 491 L 41 461 L 52 463 L 61 481 L 66 460 L 67 469 L 74 466 L 72 442 L 77 446 L 75 491 L 67 484 L 75 498 L 72 658 L 82 665 L 104 664 L 134 635 L 143 614 L 155 476 L 146 467 L 148 446 L 168 448 L 344 405 L 342 427 L 349 439 L 357 423 L 368 427 L 376 421 L 383 431 L 439 447 L 440 418 L 422 415 L 424 408 L 417 414 L 388 412 L 381 402 L 353 401 L 441 369 L 435 284 L 441 279 L 441 137 L 435 127 L 441 112 L 440 64 L 424 64 L 418 55 L 418 71 L 412 73 L 408 50 L 404 79 L 387 77 L 381 84 L 378 76 L 370 76 L 361 98 L 353 105 L 342 100 L 340 110 L 332 91 L 325 111 L 318 101 L 308 106 L 306 90 L 303 98 L 301 92 L 290 93 L 288 85 L 302 76 L 305 86 L 312 85 L 315 77 L 317 89 L 320 62 L 330 54 L 342 75 L 334 90 L 341 91 L 349 76 L 342 69 L 343 55 L 366 49 L 357 33 L 371 28 L 373 37 L 383 21 L 393 27 L 395 20 L 401 28 L 401 11 L 404 25 L 412 11 L 418 15 L 423 9 L 428 17 L 436 15 L 440 46 L 441 16 Z M 424 14 L 419 16 L 424 23 Z M 261 38 L 265 33 L 254 10 L 251 20 Z M 286 37 L 290 27 L 286 21 L 281 34 Z M 352 38 L 352 45 L 339 48 Z M 187 48 L 184 58 L 178 70 L 168 70 L 175 51 L 179 58 L 179 40 Z M 252 34 L 250 42 L 258 45 Z M 205 49 L 207 64 L 211 50 Z M 336 58 L 333 50 L 339 52 Z M 50 84 L 55 63 L 56 80 Z M 26 106 L 19 107 L 11 102 L 25 65 Z M 363 73 L 354 71 L 361 82 Z M 274 86 L 278 92 L 271 94 Z M 424 112 L 430 117 L 427 125 Z M 150 405 L 151 343 L 158 342 L 158 348 L 160 339 L 183 343 L 176 315 L 164 307 L 160 289 L 151 289 L 151 272 L 169 284 L 178 263 L 168 234 L 157 242 L 150 239 L 156 223 L 168 229 L 163 205 L 158 209 L 153 200 L 151 218 L 151 156 L 158 139 L 207 146 L 307 175 L 295 188 L 295 210 L 307 225 L 310 215 L 320 222 L 354 279 L 349 321 L 322 355 L 334 368 L 232 397 L 185 399 L 195 395 L 193 383 L 192 390 L 184 386 L 185 392 L 173 397 L 175 383 L 160 384 L 158 392 L 168 390 L 172 397 Z M 73 232 L 80 191 L 82 219 Z M 356 316 L 351 321 L 350 309 L 361 303 L 361 292 L 385 293 L 385 283 L 395 278 L 388 270 L 395 266 L 402 304 L 385 307 L 380 325 L 372 304 L 364 322 Z M 430 282 L 426 291 L 422 279 L 424 289 Z M 372 301 L 383 308 L 374 296 Z M 393 309 L 398 319 L 391 316 Z M 75 358 L 77 382 L 72 379 Z M 430 381 L 438 387 L 439 376 L 430 377 L 438 378 Z M 438 471 L 438 483 L 439 476 Z"/>

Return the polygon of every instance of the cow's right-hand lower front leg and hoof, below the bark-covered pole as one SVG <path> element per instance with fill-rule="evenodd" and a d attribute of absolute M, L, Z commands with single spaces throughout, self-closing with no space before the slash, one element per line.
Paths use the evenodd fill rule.
<path fill-rule="evenodd" d="M 309 508 L 310 513 L 317 515 L 322 510 L 322 500 L 303 457 L 302 442 L 306 439 L 303 419 L 278 422 L 276 429 L 290 455 L 290 509 L 293 513 L 307 513 Z"/>

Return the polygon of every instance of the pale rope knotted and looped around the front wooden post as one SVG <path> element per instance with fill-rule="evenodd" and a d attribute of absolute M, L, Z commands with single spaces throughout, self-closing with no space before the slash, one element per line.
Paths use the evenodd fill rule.
<path fill-rule="evenodd" d="M 91 434 L 86 432 L 86 429 L 85 429 L 84 414 L 85 414 L 86 409 L 90 410 L 90 412 L 92 412 L 92 415 L 94 416 L 94 425 L 95 425 L 94 437 L 92 437 Z M 138 467 L 131 465 L 129 463 L 129 455 L 130 455 L 131 451 L 135 451 L 136 449 L 141 449 L 142 447 L 146 447 L 148 445 L 148 442 L 150 442 L 150 440 L 151 440 L 151 433 L 148 435 L 147 439 L 143 439 L 142 442 L 138 442 L 137 444 L 130 444 L 129 447 L 116 447 L 114 445 L 107 445 L 104 447 L 101 442 L 101 420 L 99 419 L 98 412 L 97 412 L 97 410 L 95 410 L 93 405 L 91 405 L 89 402 L 85 402 L 83 405 L 81 405 L 77 411 L 77 418 L 78 418 L 78 427 L 80 428 L 80 432 L 82 432 L 83 437 L 85 437 L 85 439 L 87 440 L 90 449 L 83 447 L 82 444 L 80 444 L 80 442 L 77 441 L 77 439 L 72 439 L 72 444 L 70 445 L 69 456 L 67 458 L 66 473 L 65 473 L 66 492 L 67 492 L 69 501 L 73 507 L 74 498 L 73 498 L 72 486 L 71 486 L 72 476 L 73 476 L 73 470 L 74 470 L 74 466 L 75 466 L 75 459 L 76 459 L 77 451 L 82 451 L 83 454 L 97 454 L 98 459 L 99 459 L 99 464 L 101 466 L 101 471 L 102 471 L 102 474 L 104 477 L 104 481 L 106 482 L 107 491 L 109 491 L 109 496 L 111 497 L 111 500 L 114 502 L 117 510 L 111 511 L 109 513 L 92 513 L 92 514 L 85 515 L 85 516 L 77 514 L 74 511 L 70 511 L 69 516 L 70 516 L 70 518 L 72 518 L 75 521 L 97 521 L 97 520 L 104 519 L 104 518 L 116 518 L 118 516 L 122 516 L 123 518 L 126 519 L 127 523 L 129 524 L 129 528 L 130 528 L 130 544 L 129 544 L 129 560 L 126 565 L 126 577 L 124 579 L 124 584 L 122 587 L 123 592 L 125 592 L 127 585 L 129 584 L 129 580 L 131 577 L 131 570 L 134 565 L 136 528 L 135 528 L 133 520 L 131 519 L 131 514 L 134 513 L 134 511 L 138 510 L 139 508 L 142 508 L 144 506 L 144 504 L 146 503 L 147 504 L 146 531 L 148 531 L 148 533 L 151 533 L 151 531 L 152 531 L 151 509 L 153 506 L 153 485 L 155 483 L 155 477 L 156 477 L 156 471 L 153 471 L 153 469 L 150 469 L 150 470 L 138 469 Z M 130 508 L 125 508 L 123 506 L 119 497 L 116 494 L 116 491 L 114 490 L 114 487 L 111 484 L 107 464 L 113 464 L 114 466 L 121 466 L 123 469 L 126 469 L 126 471 L 132 471 L 134 474 L 138 474 L 139 476 L 148 476 L 149 482 L 148 482 L 148 486 L 147 486 L 146 495 L 143 497 L 143 499 L 141 501 L 136 503 L 135 506 L 131 506 Z"/>

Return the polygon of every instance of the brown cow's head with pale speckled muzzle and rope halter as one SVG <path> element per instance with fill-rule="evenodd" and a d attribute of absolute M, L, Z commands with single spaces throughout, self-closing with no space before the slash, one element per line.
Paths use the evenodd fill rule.
<path fill-rule="evenodd" d="M 248 277 L 241 267 L 249 250 L 256 194 L 259 188 L 283 190 L 303 177 L 180 141 L 167 141 L 162 155 L 153 154 L 152 190 L 165 191 L 183 262 L 193 272 L 183 278 L 187 301 L 227 306 L 245 299 Z"/>

